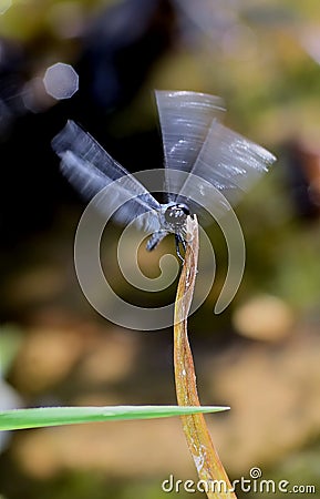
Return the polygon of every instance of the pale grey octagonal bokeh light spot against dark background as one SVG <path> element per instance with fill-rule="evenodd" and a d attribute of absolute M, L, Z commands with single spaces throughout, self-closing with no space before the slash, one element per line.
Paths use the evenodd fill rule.
<path fill-rule="evenodd" d="M 56 62 L 45 71 L 43 83 L 54 99 L 70 99 L 79 89 L 79 75 L 72 65 Z"/>

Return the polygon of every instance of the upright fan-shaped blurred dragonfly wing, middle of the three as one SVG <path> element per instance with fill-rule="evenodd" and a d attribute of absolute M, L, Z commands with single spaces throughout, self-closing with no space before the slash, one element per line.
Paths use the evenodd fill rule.
<path fill-rule="evenodd" d="M 166 169 L 189 172 L 206 140 L 213 120 L 225 110 L 223 100 L 215 95 L 185 91 L 155 92 Z M 183 185 L 167 175 L 169 201 L 175 201 Z M 172 193 L 172 194 L 171 194 Z"/>

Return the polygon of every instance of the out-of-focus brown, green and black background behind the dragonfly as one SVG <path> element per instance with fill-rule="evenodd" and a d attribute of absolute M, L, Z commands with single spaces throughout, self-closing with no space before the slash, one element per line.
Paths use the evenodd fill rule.
<path fill-rule="evenodd" d="M 230 479 L 260 467 L 319 490 L 319 64 L 314 1 L 0 2 L 1 409 L 175 404 L 172 330 L 114 326 L 82 295 L 84 203 L 50 141 L 73 119 L 127 170 L 161 167 L 153 89 L 217 94 L 226 123 L 279 160 L 237 207 L 247 264 L 219 316 L 227 255 L 211 230 L 217 277 L 189 320 L 200 400 L 231 406 L 207 417 Z M 118 235 L 109 228 L 106 261 Z M 173 248 L 143 252 L 145 272 Z M 113 279 L 133 302 L 174 297 Z M 21 430 L 0 451 L 1 499 L 157 499 L 171 473 L 196 480 L 178 418 Z"/>

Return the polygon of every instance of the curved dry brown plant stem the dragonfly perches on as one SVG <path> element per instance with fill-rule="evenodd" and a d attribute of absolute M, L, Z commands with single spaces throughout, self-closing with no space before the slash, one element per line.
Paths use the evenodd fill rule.
<path fill-rule="evenodd" d="M 198 223 L 187 220 L 185 263 L 175 302 L 174 364 L 177 401 L 179 406 L 199 406 L 196 375 L 187 335 L 187 316 L 190 308 L 198 263 Z M 189 451 L 202 481 L 202 490 L 209 499 L 236 498 L 231 485 L 214 447 L 203 414 L 182 416 L 183 429 Z"/>

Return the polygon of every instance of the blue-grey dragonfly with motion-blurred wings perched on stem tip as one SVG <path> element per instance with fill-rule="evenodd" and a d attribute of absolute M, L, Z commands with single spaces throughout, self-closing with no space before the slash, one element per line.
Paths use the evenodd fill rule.
<path fill-rule="evenodd" d="M 164 150 L 165 203 L 159 203 L 71 120 L 52 140 L 52 147 L 61 159 L 63 175 L 86 201 L 121 179 L 121 184 L 114 182 L 114 195 L 105 196 L 99 204 L 102 214 L 110 213 L 115 198 L 123 200 L 113 214 L 114 222 L 133 223 L 147 231 L 151 234 L 147 251 L 153 251 L 173 233 L 177 256 L 183 261 L 179 248 L 186 249 L 187 217 L 196 214 L 200 221 L 206 221 L 206 208 L 214 213 L 226 210 L 221 198 L 235 204 L 269 170 L 276 157 L 221 123 L 225 105 L 219 96 L 157 90 L 155 98 Z M 178 174 L 174 174 L 176 172 Z M 208 184 L 223 196 L 208 193 Z M 199 196 L 203 203 L 195 201 Z"/>

